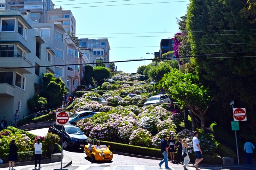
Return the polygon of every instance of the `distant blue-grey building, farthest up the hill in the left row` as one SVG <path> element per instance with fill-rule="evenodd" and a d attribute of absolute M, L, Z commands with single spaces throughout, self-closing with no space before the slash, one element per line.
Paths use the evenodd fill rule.
<path fill-rule="evenodd" d="M 79 44 L 81 49 L 86 48 L 90 51 L 90 59 L 92 63 L 95 63 L 97 60 L 101 60 L 101 62 L 109 62 L 110 46 L 107 38 L 98 40 L 81 38 L 79 39 Z M 109 63 L 106 63 L 106 67 L 109 68 Z"/>

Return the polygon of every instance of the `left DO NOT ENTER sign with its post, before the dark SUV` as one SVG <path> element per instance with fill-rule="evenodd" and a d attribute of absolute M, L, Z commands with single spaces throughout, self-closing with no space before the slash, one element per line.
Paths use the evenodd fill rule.
<path fill-rule="evenodd" d="M 57 112 L 56 113 L 56 124 L 62 125 L 62 134 L 61 134 L 61 164 L 60 169 L 62 169 L 62 159 L 63 159 L 63 125 L 68 124 L 69 122 L 69 112 Z"/>

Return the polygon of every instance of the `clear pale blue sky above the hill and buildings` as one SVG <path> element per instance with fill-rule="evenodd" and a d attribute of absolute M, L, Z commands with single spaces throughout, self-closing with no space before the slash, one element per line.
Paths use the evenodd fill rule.
<path fill-rule="evenodd" d="M 108 38 L 110 62 L 154 58 L 161 39 L 179 32 L 177 19 L 187 13 L 188 0 L 52 0 L 54 8 L 71 10 L 76 37 Z M 148 61 L 115 63 L 117 71 L 137 72 Z"/>

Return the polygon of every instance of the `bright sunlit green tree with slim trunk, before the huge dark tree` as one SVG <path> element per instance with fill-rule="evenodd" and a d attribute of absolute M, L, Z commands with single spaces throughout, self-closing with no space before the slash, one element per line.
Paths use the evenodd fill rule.
<path fill-rule="evenodd" d="M 200 85 L 199 78 L 191 73 L 182 73 L 172 69 L 159 82 L 162 87 L 179 103 L 184 104 L 194 115 L 201 120 L 202 131 L 205 132 L 205 119 L 211 105 L 210 90 Z M 193 127 L 195 129 L 195 125 Z"/>

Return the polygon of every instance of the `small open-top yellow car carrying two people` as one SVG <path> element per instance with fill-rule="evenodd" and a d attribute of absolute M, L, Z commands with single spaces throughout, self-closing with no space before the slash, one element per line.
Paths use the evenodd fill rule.
<path fill-rule="evenodd" d="M 93 142 L 94 143 L 94 142 Z M 90 157 L 91 162 L 95 160 L 112 160 L 113 153 L 109 150 L 110 146 L 103 145 L 102 148 L 95 148 L 95 145 L 92 145 L 92 152 L 89 151 L 88 147 L 90 144 L 84 145 L 84 153 L 86 156 Z"/>

